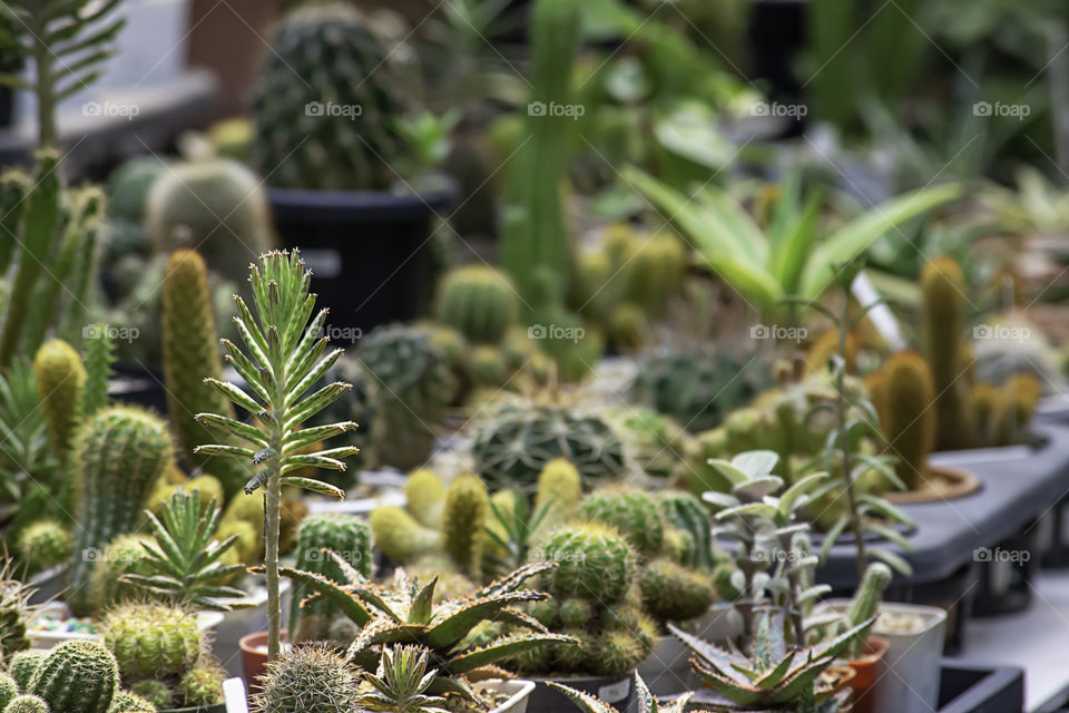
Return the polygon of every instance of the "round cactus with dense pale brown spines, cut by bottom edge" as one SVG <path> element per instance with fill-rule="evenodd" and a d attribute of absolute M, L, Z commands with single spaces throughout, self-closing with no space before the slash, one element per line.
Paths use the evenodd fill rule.
<path fill-rule="evenodd" d="M 258 713 L 347 713 L 356 711 L 360 677 L 346 657 L 327 644 L 305 644 L 267 664 Z"/>

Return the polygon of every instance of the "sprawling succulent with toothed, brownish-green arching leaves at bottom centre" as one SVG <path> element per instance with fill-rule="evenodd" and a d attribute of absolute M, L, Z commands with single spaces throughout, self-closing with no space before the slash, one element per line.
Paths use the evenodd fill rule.
<path fill-rule="evenodd" d="M 353 663 L 364 671 L 374 671 L 383 657 L 383 646 L 396 642 L 415 643 L 430 652 L 437 668 L 428 693 L 457 693 L 473 697 L 461 674 L 474 672 L 545 644 L 577 643 L 570 636 L 551 634 L 534 618 L 513 608 L 524 602 L 542 602 L 549 595 L 520 587 L 539 573 L 552 569 L 556 563 L 532 563 L 498 579 L 471 596 L 434 604 L 438 577 L 421 585 L 398 569 L 392 586 L 369 582 L 336 553 L 327 550 L 341 568 L 345 583 L 291 567 L 282 574 L 305 585 L 314 594 L 303 604 L 320 600 L 333 603 L 339 611 L 361 627 L 349 647 Z M 478 645 L 464 639 L 479 624 L 497 622 L 531 629 L 529 633 L 503 635 Z"/>

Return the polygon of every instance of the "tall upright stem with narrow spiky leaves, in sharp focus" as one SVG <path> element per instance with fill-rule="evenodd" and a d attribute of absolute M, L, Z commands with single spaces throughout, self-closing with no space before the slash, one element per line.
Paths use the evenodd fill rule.
<path fill-rule="evenodd" d="M 267 649 L 272 661 L 278 657 L 282 632 L 278 593 L 282 487 L 294 486 L 339 499 L 344 498 L 344 491 L 334 486 L 292 473 L 305 468 L 345 470 L 344 459 L 357 450 L 352 446 L 343 446 L 313 453 L 302 452 L 312 443 L 356 428 L 352 421 L 300 428 L 303 421 L 337 401 L 351 389 L 346 383 L 334 382 L 304 397 L 343 351 L 336 349 L 323 356 L 328 339 L 317 339 L 317 335 L 326 322 L 326 310 L 320 311 L 312 323 L 308 323 L 315 306 L 315 295 L 308 293 L 311 280 L 312 273 L 304 270 L 304 261 L 297 251 L 292 254 L 286 251 L 272 252 L 261 257 L 259 265 L 253 266 L 249 276 L 257 319 L 253 318 L 241 296 L 234 297 L 238 313 L 235 324 L 252 359 L 229 340 L 223 340 L 223 345 L 227 351 L 227 361 L 248 383 L 252 394 L 217 379 L 207 379 L 207 383 L 238 407 L 255 414 L 262 426 L 255 428 L 216 413 L 197 414 L 198 420 L 217 429 L 222 434 L 237 437 L 252 446 L 198 446 L 197 452 L 266 465 L 266 468 L 248 481 L 245 492 L 252 495 L 261 487 L 266 490 L 264 563 L 268 597 Z"/>

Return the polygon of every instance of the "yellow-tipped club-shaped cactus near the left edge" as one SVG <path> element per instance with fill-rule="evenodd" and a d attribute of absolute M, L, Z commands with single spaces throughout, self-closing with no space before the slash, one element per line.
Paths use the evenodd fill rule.
<path fill-rule="evenodd" d="M 62 469 L 70 461 L 75 431 L 81 417 L 86 369 L 70 344 L 53 339 L 37 350 L 33 373 L 41 410 L 48 424 L 48 438 Z"/>

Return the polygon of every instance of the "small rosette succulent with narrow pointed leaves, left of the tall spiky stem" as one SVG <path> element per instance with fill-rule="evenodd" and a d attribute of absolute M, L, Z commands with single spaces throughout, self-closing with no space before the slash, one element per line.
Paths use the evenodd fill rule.
<path fill-rule="evenodd" d="M 120 582 L 151 595 L 188 602 L 209 612 L 231 612 L 252 606 L 244 592 L 225 583 L 244 565 L 224 565 L 223 556 L 237 541 L 231 535 L 222 543 L 213 539 L 223 510 L 213 499 L 200 507 L 200 491 L 186 495 L 178 490 L 164 505 L 161 519 L 145 510 L 156 534 L 156 544 L 143 540 L 150 575 L 122 575 Z M 238 600 L 235 600 L 238 599 Z"/>

